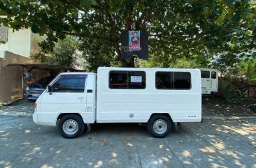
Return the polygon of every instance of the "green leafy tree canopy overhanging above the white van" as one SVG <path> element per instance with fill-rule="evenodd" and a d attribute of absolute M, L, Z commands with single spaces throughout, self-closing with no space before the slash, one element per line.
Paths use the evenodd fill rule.
<path fill-rule="evenodd" d="M 51 51 L 58 39 L 78 36 L 85 57 L 97 62 L 90 61 L 92 69 L 134 65 L 134 59 L 121 59 L 123 29 L 149 32 L 152 64 L 170 67 L 179 59 L 219 56 L 229 66 L 255 51 L 255 8 L 255 1 L 246 0 L 6 0 L 0 2 L 0 9 L 8 17 L 0 22 L 47 35 L 40 43 L 40 56 Z M 97 55 L 101 59 L 95 60 Z"/>

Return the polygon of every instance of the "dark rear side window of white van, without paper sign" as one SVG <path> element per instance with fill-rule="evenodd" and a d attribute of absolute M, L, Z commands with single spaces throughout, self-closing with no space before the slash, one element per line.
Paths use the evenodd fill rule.
<path fill-rule="evenodd" d="M 190 72 L 156 72 L 157 89 L 191 89 Z"/>

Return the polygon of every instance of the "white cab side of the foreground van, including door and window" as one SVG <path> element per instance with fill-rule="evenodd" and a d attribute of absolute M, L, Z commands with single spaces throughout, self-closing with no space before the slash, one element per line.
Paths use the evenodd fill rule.
<path fill-rule="evenodd" d="M 45 92 L 41 98 L 41 123 L 56 123 L 57 116 L 62 113 L 78 113 L 83 117 L 86 79 L 85 74 L 60 75 L 51 85 L 52 91 Z"/>

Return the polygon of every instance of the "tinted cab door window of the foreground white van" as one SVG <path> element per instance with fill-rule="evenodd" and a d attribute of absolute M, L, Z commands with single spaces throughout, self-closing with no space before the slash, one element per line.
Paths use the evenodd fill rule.
<path fill-rule="evenodd" d="M 61 75 L 52 84 L 52 92 L 83 93 L 86 75 Z"/>

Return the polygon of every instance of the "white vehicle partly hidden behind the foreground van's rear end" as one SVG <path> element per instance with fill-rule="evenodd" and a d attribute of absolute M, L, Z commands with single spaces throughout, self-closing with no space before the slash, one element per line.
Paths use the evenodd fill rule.
<path fill-rule="evenodd" d="M 201 93 L 214 95 L 218 93 L 218 70 L 200 68 L 201 70 Z"/>

